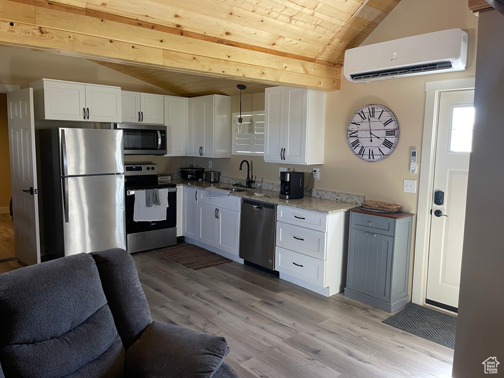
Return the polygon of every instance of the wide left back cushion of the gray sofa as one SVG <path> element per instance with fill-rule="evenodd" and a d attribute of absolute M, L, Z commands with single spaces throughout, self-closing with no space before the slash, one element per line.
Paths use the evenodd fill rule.
<path fill-rule="evenodd" d="M 73 255 L 0 275 L 0 364 L 7 376 L 73 373 L 116 338 L 91 256 Z"/>

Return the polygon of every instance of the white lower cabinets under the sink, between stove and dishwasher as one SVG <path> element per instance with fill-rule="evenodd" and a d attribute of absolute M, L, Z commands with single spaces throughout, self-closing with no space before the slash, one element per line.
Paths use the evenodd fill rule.
<path fill-rule="evenodd" d="M 240 261 L 241 199 L 207 198 L 205 190 L 185 186 L 182 198 L 182 229 L 186 240 Z"/>

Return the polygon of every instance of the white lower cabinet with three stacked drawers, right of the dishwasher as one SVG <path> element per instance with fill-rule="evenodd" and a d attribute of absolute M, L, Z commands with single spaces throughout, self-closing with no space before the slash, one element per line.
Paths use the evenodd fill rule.
<path fill-rule="evenodd" d="M 346 282 L 348 212 L 335 214 L 277 207 L 275 270 L 280 278 L 325 296 Z"/>

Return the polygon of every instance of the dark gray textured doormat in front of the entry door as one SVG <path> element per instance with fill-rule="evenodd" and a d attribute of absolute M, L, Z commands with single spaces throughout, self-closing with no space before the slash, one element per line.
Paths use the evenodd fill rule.
<path fill-rule="evenodd" d="M 384 320 L 383 323 L 455 349 L 457 318 L 446 313 L 410 303 L 404 310 Z"/>

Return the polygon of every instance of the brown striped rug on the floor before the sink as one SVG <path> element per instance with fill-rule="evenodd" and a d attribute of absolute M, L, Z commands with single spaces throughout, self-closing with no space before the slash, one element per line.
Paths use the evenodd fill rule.
<path fill-rule="evenodd" d="M 160 249 L 158 252 L 193 270 L 215 267 L 232 261 L 193 244 Z"/>

